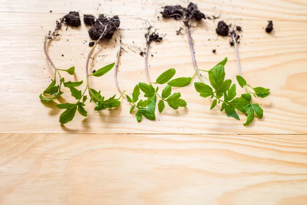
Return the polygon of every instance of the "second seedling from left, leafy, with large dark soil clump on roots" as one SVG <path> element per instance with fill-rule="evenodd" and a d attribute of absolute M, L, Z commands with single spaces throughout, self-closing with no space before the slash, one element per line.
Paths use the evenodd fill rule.
<path fill-rule="evenodd" d="M 114 21 L 116 21 L 116 20 L 117 20 L 117 23 L 114 23 Z M 87 116 L 87 112 L 84 109 L 84 106 L 85 106 L 84 103 L 87 100 L 87 96 L 85 95 L 85 92 L 87 90 L 89 91 L 89 95 L 90 95 L 90 103 L 92 101 L 94 101 L 94 103 L 96 105 L 94 110 L 96 110 L 96 111 L 103 110 L 103 109 L 106 109 L 106 108 L 108 108 L 108 109 L 116 108 L 120 105 L 119 99 L 121 98 L 121 96 L 119 98 L 115 98 L 116 95 L 114 95 L 113 97 L 110 97 L 107 100 L 104 100 L 104 97 L 101 96 L 101 92 L 100 91 L 97 92 L 96 90 L 94 90 L 90 86 L 90 78 L 89 78 L 90 76 L 100 77 L 100 76 L 106 74 L 108 71 L 110 71 L 115 65 L 115 63 L 107 65 L 107 66 L 97 70 L 96 72 L 89 74 L 89 61 L 90 61 L 91 55 L 94 52 L 96 46 L 98 45 L 98 43 L 100 42 L 100 40 L 102 38 L 107 38 L 111 35 L 111 30 L 113 30 L 114 27 L 116 27 L 115 25 L 119 26 L 118 17 L 116 19 L 114 19 L 114 18 L 106 18 L 106 17 L 103 16 L 103 18 L 102 17 L 100 19 L 98 18 L 97 21 L 95 22 L 96 26 L 94 26 L 93 28 L 96 27 L 96 28 L 99 28 L 99 29 L 96 30 L 95 32 L 89 31 L 90 36 L 91 36 L 91 33 L 95 34 L 95 35 L 97 33 L 100 33 L 100 36 L 98 37 L 95 45 L 91 48 L 89 55 L 87 55 L 86 65 L 85 65 L 86 87 L 85 87 L 84 91 L 81 92 L 80 90 L 76 89 L 75 87 L 80 86 L 83 83 L 83 81 L 79 81 L 79 82 L 75 82 L 75 83 L 70 83 L 70 82 L 64 83 L 64 86 L 70 88 L 72 96 L 75 97 L 76 100 L 78 100 L 78 101 L 74 104 L 65 103 L 65 104 L 58 104 L 57 105 L 57 107 L 60 108 L 60 109 L 66 109 L 60 115 L 59 121 L 60 121 L 61 124 L 66 124 L 67 122 L 73 120 L 77 110 L 81 115 L 83 115 L 85 117 Z M 113 32 L 114 32 L 114 30 L 113 30 Z M 113 33 L 112 33 L 112 35 L 113 35 Z"/>

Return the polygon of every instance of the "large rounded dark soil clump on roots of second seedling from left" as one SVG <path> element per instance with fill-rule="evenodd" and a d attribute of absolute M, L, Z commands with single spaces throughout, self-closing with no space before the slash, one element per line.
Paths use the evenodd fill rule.
<path fill-rule="evenodd" d="M 94 26 L 89 30 L 89 35 L 93 40 L 97 40 L 104 32 L 102 38 L 111 39 L 119 25 L 120 20 L 118 16 L 107 18 L 103 14 L 100 14 Z"/>

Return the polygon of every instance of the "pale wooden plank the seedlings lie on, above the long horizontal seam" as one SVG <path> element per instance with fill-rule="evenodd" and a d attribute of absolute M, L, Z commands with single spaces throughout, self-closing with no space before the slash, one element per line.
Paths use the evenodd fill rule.
<path fill-rule="evenodd" d="M 79 7 L 82 8 L 82 4 Z M 249 127 L 242 125 L 246 119 L 244 115 L 240 115 L 242 119 L 237 121 L 221 113 L 218 107 L 210 111 L 211 100 L 201 98 L 192 85 L 176 89 L 186 99 L 188 107 L 178 111 L 167 108 L 165 113 L 157 114 L 156 121 L 143 120 L 139 124 L 135 116 L 129 114 L 126 101 L 122 101 L 120 108 L 98 113 L 94 112 L 92 104 L 87 104 L 89 117 L 77 114 L 70 124 L 60 126 L 60 110 L 55 108 L 56 103 L 42 104 L 38 95 L 49 85 L 53 76 L 42 50 L 42 41 L 45 34 L 54 28 L 55 19 L 62 14 L 10 13 L 10 18 L 7 15 L 6 12 L 0 13 L 4 24 L 0 34 L 2 133 L 307 133 L 307 90 L 302 86 L 307 76 L 305 22 L 274 20 L 275 29 L 270 35 L 262 29 L 267 24 L 264 19 L 223 18 L 229 24 L 243 27 L 239 51 L 248 82 L 271 89 L 269 97 L 255 100 L 264 107 L 265 117 L 256 119 Z M 151 46 L 151 78 L 155 79 L 171 67 L 177 69 L 176 77 L 191 76 L 194 70 L 186 35 L 176 35 L 175 32 L 183 25 L 174 20 L 157 20 L 149 14 L 146 19 L 153 22 L 161 33 L 167 33 L 162 44 Z M 198 29 L 192 29 L 196 59 L 200 68 L 209 69 L 227 56 L 226 77 L 234 81 L 238 74 L 235 53 L 227 37 L 216 37 L 216 24 L 217 21 L 205 20 L 198 25 Z M 143 48 L 145 27 L 140 19 L 121 16 L 123 43 L 129 47 Z M 61 68 L 76 67 L 76 75 L 64 75 L 65 79 L 84 80 L 85 56 L 89 52 L 87 44 L 90 40 L 86 28 L 83 25 L 79 29 L 69 28 L 61 34 L 49 49 L 54 62 Z M 216 54 L 212 54 L 213 48 L 217 50 Z M 116 49 L 114 39 L 102 43 L 95 53 L 95 65 L 92 62 L 91 69 L 113 63 Z M 119 81 L 122 89 L 130 93 L 139 81 L 146 82 L 146 75 L 144 59 L 138 54 L 139 51 L 136 48 L 129 50 L 127 46 L 125 49 L 128 53 L 123 53 L 121 58 Z M 100 79 L 92 78 L 91 85 L 100 89 L 106 97 L 118 93 L 112 72 Z M 244 90 L 238 89 L 240 92 Z M 67 93 L 61 99 L 61 102 L 64 101 L 74 100 Z"/>

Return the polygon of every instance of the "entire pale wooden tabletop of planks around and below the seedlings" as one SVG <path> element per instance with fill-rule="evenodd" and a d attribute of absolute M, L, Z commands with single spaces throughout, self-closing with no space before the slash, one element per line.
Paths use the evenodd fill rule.
<path fill-rule="evenodd" d="M 187 36 L 176 35 L 182 23 L 157 17 L 165 2 L 188 4 L 0 0 L 1 205 L 307 204 L 305 1 L 194 2 L 205 14 L 242 26 L 238 49 L 243 74 L 252 86 L 271 89 L 269 97 L 256 101 L 264 108 L 264 118 L 249 127 L 243 126 L 244 115 L 238 121 L 218 107 L 210 111 L 210 99 L 201 98 L 192 85 L 176 89 L 186 99 L 186 108 L 166 108 L 156 121 L 140 124 L 124 100 L 119 108 L 100 112 L 87 103 L 89 116 L 76 114 L 65 126 L 58 122 L 58 101 L 41 103 L 38 96 L 54 74 L 43 53 L 43 39 L 55 20 L 69 11 L 120 16 L 127 52 L 121 56 L 118 78 L 127 93 L 147 79 L 138 50 L 145 46 L 146 32 L 140 18 L 167 33 L 163 43 L 151 46 L 151 78 L 169 68 L 176 68 L 176 77 L 191 76 Z M 234 81 L 234 49 L 228 37 L 216 36 L 218 20 L 206 19 L 191 29 L 196 61 L 201 69 L 209 69 L 227 56 L 226 77 Z M 274 23 L 271 34 L 264 31 L 267 20 Z M 87 29 L 83 24 L 63 29 L 49 47 L 57 67 L 76 67 L 76 75 L 64 75 L 67 80 L 85 79 Z M 91 70 L 116 57 L 114 39 L 98 48 Z M 113 72 L 91 78 L 91 85 L 105 96 L 118 94 Z M 66 93 L 60 103 L 65 101 L 74 99 Z"/>

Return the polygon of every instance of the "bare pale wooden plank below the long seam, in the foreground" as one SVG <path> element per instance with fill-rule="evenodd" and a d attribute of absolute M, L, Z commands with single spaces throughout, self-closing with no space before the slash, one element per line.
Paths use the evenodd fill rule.
<path fill-rule="evenodd" d="M 0 203 L 306 204 L 306 135 L 0 135 Z"/>

